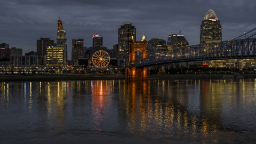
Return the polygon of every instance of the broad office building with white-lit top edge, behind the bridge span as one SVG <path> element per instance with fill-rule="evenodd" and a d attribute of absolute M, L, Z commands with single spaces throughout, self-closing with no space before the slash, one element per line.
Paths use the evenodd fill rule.
<path fill-rule="evenodd" d="M 167 46 L 169 50 L 177 49 L 179 47 L 188 46 L 188 41 L 184 35 L 169 35 L 167 38 Z"/>

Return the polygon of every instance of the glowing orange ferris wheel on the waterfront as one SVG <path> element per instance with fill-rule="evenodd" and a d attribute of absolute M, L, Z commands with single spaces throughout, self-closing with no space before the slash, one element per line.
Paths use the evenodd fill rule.
<path fill-rule="evenodd" d="M 109 55 L 106 51 L 99 50 L 92 56 L 92 62 L 94 66 L 98 68 L 107 67 L 110 61 Z"/>

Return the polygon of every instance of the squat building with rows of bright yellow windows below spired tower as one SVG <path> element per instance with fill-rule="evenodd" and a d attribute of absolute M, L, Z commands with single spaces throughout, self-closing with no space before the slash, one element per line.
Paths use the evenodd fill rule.
<path fill-rule="evenodd" d="M 60 46 L 48 46 L 47 55 L 45 59 L 46 66 L 63 66 L 64 62 L 64 49 Z"/>

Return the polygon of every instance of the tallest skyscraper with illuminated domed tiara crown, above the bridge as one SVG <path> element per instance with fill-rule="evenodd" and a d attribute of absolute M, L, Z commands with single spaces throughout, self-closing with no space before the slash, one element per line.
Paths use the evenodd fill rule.
<path fill-rule="evenodd" d="M 201 25 L 200 44 L 221 42 L 221 25 L 213 10 L 207 11 Z"/>

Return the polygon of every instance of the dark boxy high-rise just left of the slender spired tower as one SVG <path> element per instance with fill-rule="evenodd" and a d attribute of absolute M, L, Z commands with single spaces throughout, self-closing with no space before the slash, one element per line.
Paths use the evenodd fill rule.
<path fill-rule="evenodd" d="M 38 53 L 38 56 L 46 56 L 46 50 L 47 50 L 47 46 L 53 46 L 54 45 L 54 41 L 51 40 L 50 38 L 40 38 L 37 39 L 36 41 L 36 51 Z"/>

